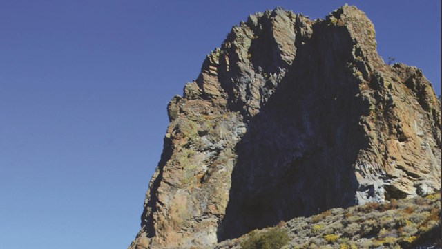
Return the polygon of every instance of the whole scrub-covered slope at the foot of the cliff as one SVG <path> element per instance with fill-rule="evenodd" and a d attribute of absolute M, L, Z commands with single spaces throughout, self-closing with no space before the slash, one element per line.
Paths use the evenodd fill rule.
<path fill-rule="evenodd" d="M 440 216 L 438 192 L 414 199 L 334 208 L 292 219 L 276 228 L 254 230 L 229 243 L 243 249 L 417 248 L 441 243 Z"/>

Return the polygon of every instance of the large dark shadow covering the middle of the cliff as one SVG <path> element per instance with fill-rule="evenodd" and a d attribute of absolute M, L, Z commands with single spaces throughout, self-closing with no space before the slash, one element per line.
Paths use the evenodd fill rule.
<path fill-rule="evenodd" d="M 318 25 L 236 146 L 226 214 L 218 241 L 296 216 L 355 204 L 354 163 L 367 139 L 355 98 L 352 38 Z"/>

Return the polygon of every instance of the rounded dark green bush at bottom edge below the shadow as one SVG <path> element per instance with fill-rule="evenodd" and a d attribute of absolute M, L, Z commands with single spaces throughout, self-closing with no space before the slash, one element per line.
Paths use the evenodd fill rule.
<path fill-rule="evenodd" d="M 290 241 L 287 230 L 269 228 L 265 231 L 253 230 L 241 243 L 242 249 L 279 249 Z"/>

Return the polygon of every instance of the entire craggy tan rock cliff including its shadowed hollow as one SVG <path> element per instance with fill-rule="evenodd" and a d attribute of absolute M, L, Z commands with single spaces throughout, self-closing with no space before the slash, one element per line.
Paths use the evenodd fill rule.
<path fill-rule="evenodd" d="M 330 208 L 441 187 L 441 104 L 418 68 L 389 66 L 374 26 L 250 15 L 169 106 L 130 248 L 210 248 Z"/>

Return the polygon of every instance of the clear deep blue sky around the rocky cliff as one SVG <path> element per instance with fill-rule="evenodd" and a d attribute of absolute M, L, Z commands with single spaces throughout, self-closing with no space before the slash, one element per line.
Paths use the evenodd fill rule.
<path fill-rule="evenodd" d="M 0 248 L 126 248 L 166 104 L 249 13 L 365 11 L 385 59 L 441 82 L 441 2 L 0 1 Z"/>

